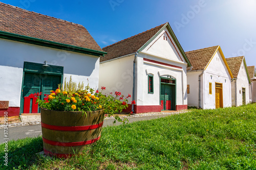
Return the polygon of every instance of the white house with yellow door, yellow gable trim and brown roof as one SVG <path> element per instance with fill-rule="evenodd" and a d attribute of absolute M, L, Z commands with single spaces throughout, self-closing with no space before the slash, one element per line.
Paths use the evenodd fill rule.
<path fill-rule="evenodd" d="M 188 106 L 231 107 L 232 73 L 220 46 L 186 52 L 193 68 L 187 71 Z"/>

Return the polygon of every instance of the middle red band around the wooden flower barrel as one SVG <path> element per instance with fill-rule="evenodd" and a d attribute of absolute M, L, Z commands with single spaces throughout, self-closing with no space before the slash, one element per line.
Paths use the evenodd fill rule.
<path fill-rule="evenodd" d="M 58 141 L 48 140 L 48 139 L 42 137 L 42 141 L 44 141 L 45 143 L 51 144 L 51 145 L 55 145 L 55 146 L 74 147 L 74 146 L 80 146 L 80 145 L 86 145 L 86 144 L 94 143 L 97 140 L 99 140 L 99 138 L 100 138 L 100 136 L 95 138 L 95 139 L 91 139 L 91 140 L 87 140 L 87 141 L 80 141 L 80 142 L 58 142 Z"/>

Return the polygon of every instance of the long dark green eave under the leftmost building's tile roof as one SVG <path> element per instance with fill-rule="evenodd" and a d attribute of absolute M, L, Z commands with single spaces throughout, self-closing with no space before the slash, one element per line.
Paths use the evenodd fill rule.
<path fill-rule="evenodd" d="M 69 45 L 69 44 L 63 44 L 63 43 L 54 42 L 54 41 L 48 41 L 48 40 L 29 37 L 29 36 L 25 36 L 25 35 L 8 33 L 8 32 L 4 32 L 4 31 L 0 31 L 0 38 L 57 48 L 60 50 L 67 50 L 67 51 L 72 51 L 72 52 L 77 52 L 77 53 L 82 53 L 82 54 L 88 54 L 88 55 L 97 56 L 97 57 L 104 56 L 105 54 L 107 54 L 106 52 L 91 50 L 89 48 L 83 48 L 83 47 L 79 47 L 79 46 L 75 46 L 75 45 Z"/>

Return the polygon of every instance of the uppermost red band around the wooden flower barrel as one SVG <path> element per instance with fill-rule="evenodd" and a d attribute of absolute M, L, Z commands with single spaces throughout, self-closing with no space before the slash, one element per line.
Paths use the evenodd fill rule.
<path fill-rule="evenodd" d="M 99 127 L 102 127 L 103 122 L 97 125 L 90 125 L 90 126 L 54 126 L 54 125 L 48 125 L 41 122 L 42 128 L 55 130 L 55 131 L 86 131 L 86 130 L 92 130 L 97 129 Z"/>

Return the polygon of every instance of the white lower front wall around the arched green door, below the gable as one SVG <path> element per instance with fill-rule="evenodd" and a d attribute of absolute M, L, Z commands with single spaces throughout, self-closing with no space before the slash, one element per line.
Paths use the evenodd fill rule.
<path fill-rule="evenodd" d="M 157 60 L 159 62 L 180 66 L 181 68 L 175 68 L 165 66 L 157 63 L 143 61 L 143 58 Z M 176 104 L 187 105 L 186 94 L 186 64 L 176 63 L 173 61 L 157 58 L 155 56 L 139 53 L 137 58 L 137 105 L 143 106 L 156 106 L 160 105 L 160 77 L 172 76 L 176 78 Z M 148 75 L 154 75 L 154 93 L 148 93 Z"/>

